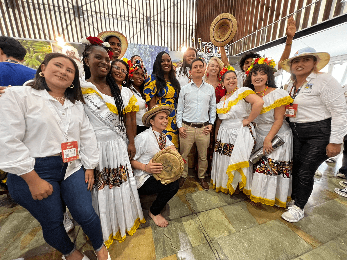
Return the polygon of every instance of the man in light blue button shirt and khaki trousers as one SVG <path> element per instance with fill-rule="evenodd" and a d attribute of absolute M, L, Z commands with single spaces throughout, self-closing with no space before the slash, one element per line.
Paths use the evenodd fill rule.
<path fill-rule="evenodd" d="M 216 118 L 216 99 L 212 85 L 203 81 L 205 64 L 201 59 L 191 63 L 189 74 L 193 79 L 191 83 L 183 86 L 179 93 L 176 123 L 179 131 L 180 152 L 186 161 L 195 142 L 198 151 L 198 179 L 204 190 L 209 190 L 205 181 L 205 172 L 208 167 L 207 148 L 210 144 L 210 132 Z M 188 166 L 179 178 L 180 188 L 188 175 Z"/>

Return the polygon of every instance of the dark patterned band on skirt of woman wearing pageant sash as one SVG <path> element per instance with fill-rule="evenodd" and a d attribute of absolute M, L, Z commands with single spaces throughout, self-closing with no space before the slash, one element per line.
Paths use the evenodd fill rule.
<path fill-rule="evenodd" d="M 107 185 L 112 189 L 114 186 L 120 187 L 123 182 L 127 181 L 127 173 L 128 167 L 120 165 L 114 169 L 105 167 L 101 172 L 94 170 L 94 177 L 99 190 L 102 190 Z"/>

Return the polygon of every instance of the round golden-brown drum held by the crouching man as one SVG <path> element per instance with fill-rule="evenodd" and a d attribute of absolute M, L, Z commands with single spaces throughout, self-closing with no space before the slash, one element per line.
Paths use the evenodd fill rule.
<path fill-rule="evenodd" d="M 163 170 L 153 176 L 162 184 L 169 184 L 179 179 L 183 173 L 184 162 L 182 156 L 170 148 L 165 148 L 153 156 L 153 163 L 161 163 Z"/>

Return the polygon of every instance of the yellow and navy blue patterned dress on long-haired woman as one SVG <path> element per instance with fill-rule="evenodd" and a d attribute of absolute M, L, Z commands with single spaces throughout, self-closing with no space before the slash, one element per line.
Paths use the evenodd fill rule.
<path fill-rule="evenodd" d="M 178 149 L 178 128 L 176 125 L 176 109 L 177 109 L 177 101 L 178 101 L 178 93 L 172 87 L 170 81 L 166 80 L 166 87 L 158 93 L 158 96 L 155 95 L 157 88 L 155 85 L 155 75 L 151 75 L 146 79 L 145 88 L 143 92 L 146 96 L 146 102 L 149 102 L 151 98 L 155 98 L 155 104 L 167 104 L 174 105 L 175 109 L 169 115 L 169 123 L 167 128 L 163 131 L 164 134 L 171 140 L 171 142 L 175 145 L 176 149 Z"/>

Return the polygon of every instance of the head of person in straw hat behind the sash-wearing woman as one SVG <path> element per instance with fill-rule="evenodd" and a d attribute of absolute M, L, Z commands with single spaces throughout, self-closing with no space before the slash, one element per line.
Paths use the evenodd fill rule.
<path fill-rule="evenodd" d="M 128 49 L 128 40 L 124 34 L 116 31 L 101 32 L 97 36 L 101 41 L 108 42 L 113 50 L 112 61 L 121 59 Z"/>

